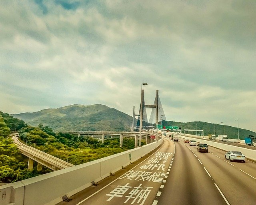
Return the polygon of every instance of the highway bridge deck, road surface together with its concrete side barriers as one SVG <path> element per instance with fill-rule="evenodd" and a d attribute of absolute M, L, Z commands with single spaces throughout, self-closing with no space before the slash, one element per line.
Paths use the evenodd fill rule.
<path fill-rule="evenodd" d="M 180 133 L 179 138 L 173 142 L 167 135 L 124 153 L 1 186 L 0 204 L 255 204 L 256 150 L 196 135 Z M 207 143 L 209 153 L 197 153 L 184 139 Z M 225 159 L 223 150 L 234 149 L 246 163 Z"/>

